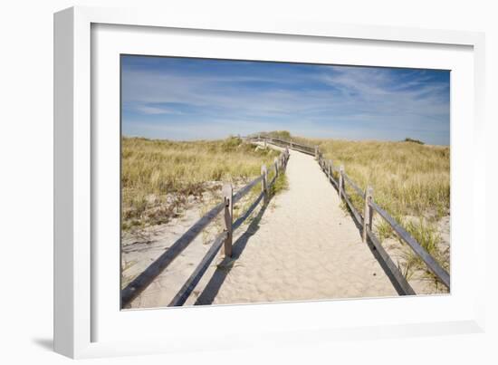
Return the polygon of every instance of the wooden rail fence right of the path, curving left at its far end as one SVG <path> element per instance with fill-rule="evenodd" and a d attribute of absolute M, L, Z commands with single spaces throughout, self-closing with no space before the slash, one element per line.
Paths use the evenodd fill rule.
<path fill-rule="evenodd" d="M 361 226 L 361 234 L 363 242 L 367 242 L 369 245 L 373 245 L 375 250 L 380 255 L 381 259 L 384 261 L 386 268 L 391 274 L 392 279 L 397 287 L 397 291 L 403 295 L 413 295 L 415 291 L 412 289 L 407 279 L 401 272 L 396 264 L 389 257 L 388 253 L 382 247 L 378 237 L 372 231 L 372 218 L 375 212 L 378 216 L 382 217 L 389 226 L 392 227 L 393 231 L 396 232 L 397 236 L 407 243 L 413 252 L 422 259 L 426 264 L 427 268 L 431 273 L 435 274 L 436 278 L 445 285 L 446 288 L 450 288 L 450 275 L 445 271 L 445 269 L 436 262 L 435 258 L 430 255 L 426 249 L 420 245 L 417 240 L 410 235 L 405 228 L 403 228 L 396 219 L 389 216 L 382 207 L 379 207 L 373 199 L 373 188 L 367 187 L 365 190 L 361 189 L 358 184 L 356 184 L 345 172 L 344 166 L 336 167 L 333 165 L 332 160 L 326 160 L 323 158 L 323 154 L 318 146 L 307 146 L 303 144 L 298 144 L 290 140 L 285 139 L 275 139 L 264 136 L 251 137 L 249 140 L 254 141 L 266 141 L 268 143 L 278 144 L 282 147 L 287 147 L 295 150 L 302 151 L 313 155 L 321 169 L 327 175 L 330 183 L 335 187 L 339 193 L 339 197 L 343 199 L 347 206 L 350 208 L 351 214 L 354 216 L 359 226 Z M 275 143 L 276 142 L 276 143 Z M 334 178 L 334 174 L 337 178 Z M 358 211 L 356 207 L 351 202 L 350 196 L 346 192 L 346 185 L 352 187 L 352 190 L 361 197 L 365 203 L 363 209 L 363 215 Z"/>

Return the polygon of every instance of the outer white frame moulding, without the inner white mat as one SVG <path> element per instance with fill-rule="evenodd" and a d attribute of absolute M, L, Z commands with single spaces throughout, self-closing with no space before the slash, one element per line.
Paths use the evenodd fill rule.
<path fill-rule="evenodd" d="M 328 24 L 283 19 L 196 18 L 137 9 L 73 7 L 54 14 L 54 349 L 72 358 L 101 357 L 182 350 L 160 341 L 126 344 L 91 342 L 91 24 L 164 26 L 262 34 L 292 34 L 474 47 L 474 171 L 484 171 L 484 34 L 371 25 Z M 474 175 L 475 176 L 475 175 Z M 474 201 L 485 190 L 474 188 Z M 419 336 L 474 332 L 484 329 L 484 220 L 474 219 L 482 264 L 474 321 L 396 325 L 321 331 L 321 341 L 348 338 Z M 430 328 L 429 328 L 430 326 Z M 278 342 L 311 342 L 310 333 L 284 332 Z M 325 337 L 324 337 L 325 335 Z M 257 344 L 263 347 L 267 336 Z M 277 336 L 272 336 L 273 345 Z M 299 341 L 296 341 L 299 337 Z M 311 340 L 312 339 L 312 340 Z M 244 346 L 232 341 L 230 348 Z M 257 343 L 256 343 L 257 342 Z M 221 342 L 206 344 L 222 348 Z M 196 350 L 196 349 L 193 349 Z"/>

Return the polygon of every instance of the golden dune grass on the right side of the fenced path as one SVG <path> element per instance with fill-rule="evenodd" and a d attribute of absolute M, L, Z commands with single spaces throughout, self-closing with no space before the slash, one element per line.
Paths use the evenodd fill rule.
<path fill-rule="evenodd" d="M 424 145 L 412 139 L 400 142 L 292 139 L 318 145 L 323 157 L 331 159 L 336 167 L 343 165 L 346 174 L 360 188 L 373 187 L 378 205 L 404 226 L 439 264 L 449 269 L 449 253 L 441 251 L 441 237 L 436 229 L 439 219 L 450 214 L 449 147 Z M 362 213 L 363 199 L 348 184 L 346 187 L 352 204 Z M 383 219 L 376 222 L 381 240 L 397 239 L 387 222 Z M 418 271 L 435 281 L 418 256 L 404 243 L 400 245 L 402 255 L 398 264 L 406 276 Z"/>

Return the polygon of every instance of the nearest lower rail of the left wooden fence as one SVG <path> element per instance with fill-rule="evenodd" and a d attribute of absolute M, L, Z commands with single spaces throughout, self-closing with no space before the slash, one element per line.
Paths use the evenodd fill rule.
<path fill-rule="evenodd" d="M 227 235 L 227 232 L 223 232 L 215 238 L 215 242 L 206 252 L 206 255 L 203 257 L 201 262 L 197 264 L 194 272 L 188 277 L 187 282 L 183 284 L 177 295 L 175 295 L 173 300 L 168 304 L 169 307 L 177 307 L 187 302 L 190 294 L 194 291 L 194 289 L 196 289 L 197 283 L 199 283 L 202 276 L 206 274 L 209 264 L 211 264 L 215 259 L 216 254 L 225 242 Z"/>

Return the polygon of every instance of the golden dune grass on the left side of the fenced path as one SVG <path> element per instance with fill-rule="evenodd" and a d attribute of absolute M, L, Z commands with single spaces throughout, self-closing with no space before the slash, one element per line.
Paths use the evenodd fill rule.
<path fill-rule="evenodd" d="M 202 197 L 222 182 L 255 178 L 279 154 L 234 137 L 192 142 L 123 137 L 121 143 L 123 231 L 166 223 L 188 197 Z"/>

